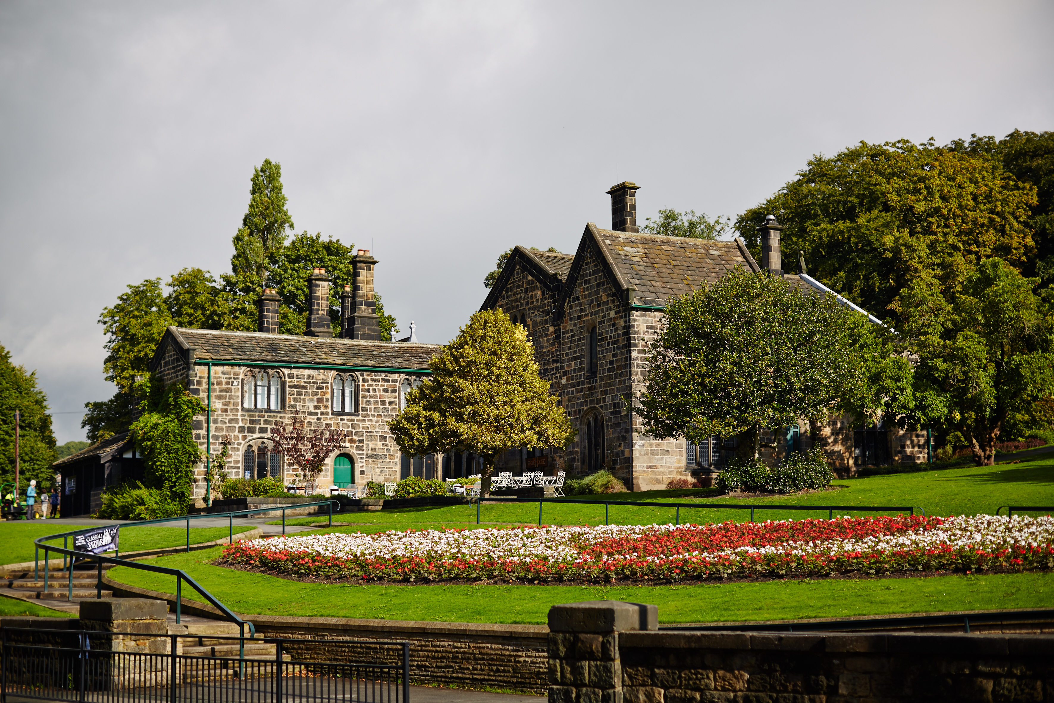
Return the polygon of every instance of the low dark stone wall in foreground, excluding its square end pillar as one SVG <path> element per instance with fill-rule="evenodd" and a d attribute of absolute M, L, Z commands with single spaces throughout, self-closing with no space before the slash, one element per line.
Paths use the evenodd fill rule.
<path fill-rule="evenodd" d="M 626 703 L 1040 701 L 1045 634 L 620 632 Z"/>

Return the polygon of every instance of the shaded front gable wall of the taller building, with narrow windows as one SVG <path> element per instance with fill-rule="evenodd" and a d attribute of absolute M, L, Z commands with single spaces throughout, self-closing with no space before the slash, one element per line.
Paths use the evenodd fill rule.
<path fill-rule="evenodd" d="M 629 340 L 626 306 L 605 274 L 592 249 L 586 249 L 574 290 L 568 297 L 561 320 L 561 397 L 578 440 L 566 452 L 565 465 L 578 473 L 585 471 L 585 415 L 596 409 L 604 416 L 606 468 L 636 485 L 633 447 L 629 435 L 629 412 L 622 396 L 630 391 Z M 589 329 L 598 328 L 598 373 L 587 373 Z M 665 485 L 664 485 L 665 487 Z"/>

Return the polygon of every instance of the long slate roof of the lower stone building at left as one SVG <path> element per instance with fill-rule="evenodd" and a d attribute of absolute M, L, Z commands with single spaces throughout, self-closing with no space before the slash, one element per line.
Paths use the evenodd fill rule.
<path fill-rule="evenodd" d="M 183 349 L 193 348 L 195 358 L 223 362 L 427 370 L 428 362 L 443 349 L 442 345 L 408 341 L 365 341 L 175 327 L 170 327 L 169 333 Z"/>

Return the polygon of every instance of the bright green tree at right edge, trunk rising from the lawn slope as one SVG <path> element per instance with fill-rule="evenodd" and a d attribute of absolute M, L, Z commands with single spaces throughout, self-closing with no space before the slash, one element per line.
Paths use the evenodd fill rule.
<path fill-rule="evenodd" d="M 1007 261 L 953 261 L 920 272 L 894 305 L 905 348 L 918 358 L 915 386 L 938 398 L 978 465 L 995 462 L 1009 422 L 1036 414 L 1054 395 L 1054 309 Z"/>

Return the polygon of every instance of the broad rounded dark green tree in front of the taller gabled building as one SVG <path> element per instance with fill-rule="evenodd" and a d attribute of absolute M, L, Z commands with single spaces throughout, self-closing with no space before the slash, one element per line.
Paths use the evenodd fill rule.
<path fill-rule="evenodd" d="M 862 353 L 862 319 L 834 296 L 742 269 L 671 300 L 636 398 L 644 433 L 696 443 L 738 434 L 741 453 L 757 456 L 762 428 L 866 406 L 877 395 L 866 370 L 883 359 Z"/>

